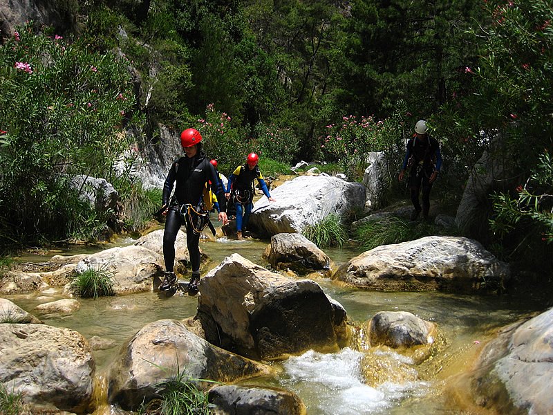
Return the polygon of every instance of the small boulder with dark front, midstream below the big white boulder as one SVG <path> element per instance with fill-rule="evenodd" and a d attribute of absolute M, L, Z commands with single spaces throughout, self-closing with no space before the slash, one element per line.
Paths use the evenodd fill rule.
<path fill-rule="evenodd" d="M 263 253 L 277 269 L 290 269 L 299 274 L 312 270 L 328 270 L 330 258 L 315 243 L 298 233 L 281 233 L 271 237 Z"/>

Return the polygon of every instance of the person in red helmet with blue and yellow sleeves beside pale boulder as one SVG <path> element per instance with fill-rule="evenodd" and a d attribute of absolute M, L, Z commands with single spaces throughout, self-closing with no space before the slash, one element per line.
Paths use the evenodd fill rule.
<path fill-rule="evenodd" d="M 253 207 L 252 201 L 255 194 L 254 181 L 256 179 L 261 186 L 263 194 L 267 196 L 269 201 L 274 202 L 259 171 L 258 161 L 259 157 L 257 154 L 248 154 L 246 163 L 236 167 L 230 175 L 229 183 L 227 184 L 225 196 L 227 200 L 231 200 L 236 206 L 236 237 L 238 239 L 242 239 L 242 231 L 245 230 L 247 221 L 250 219 Z"/>

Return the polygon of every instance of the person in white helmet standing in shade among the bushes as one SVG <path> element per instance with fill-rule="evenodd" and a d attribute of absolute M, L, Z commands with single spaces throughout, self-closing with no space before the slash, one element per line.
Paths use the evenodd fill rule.
<path fill-rule="evenodd" d="M 429 136 L 427 122 L 420 120 L 415 124 L 415 135 L 407 142 L 407 151 L 399 176 L 402 181 L 406 170 L 409 169 L 409 192 L 414 207 L 411 221 L 418 218 L 421 210 L 423 219 L 425 221 L 428 219 L 430 191 L 432 183 L 440 173 L 440 167 L 442 167 L 440 145 L 435 138 Z M 419 202 L 421 187 L 422 208 Z"/>

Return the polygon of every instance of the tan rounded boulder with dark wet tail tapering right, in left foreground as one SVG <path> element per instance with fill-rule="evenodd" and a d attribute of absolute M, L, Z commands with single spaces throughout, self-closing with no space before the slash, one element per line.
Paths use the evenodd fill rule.
<path fill-rule="evenodd" d="M 122 345 L 109 368 L 108 398 L 137 409 L 160 395 L 160 382 L 176 377 L 236 382 L 269 374 L 269 368 L 209 344 L 177 320 L 144 326 Z"/>

